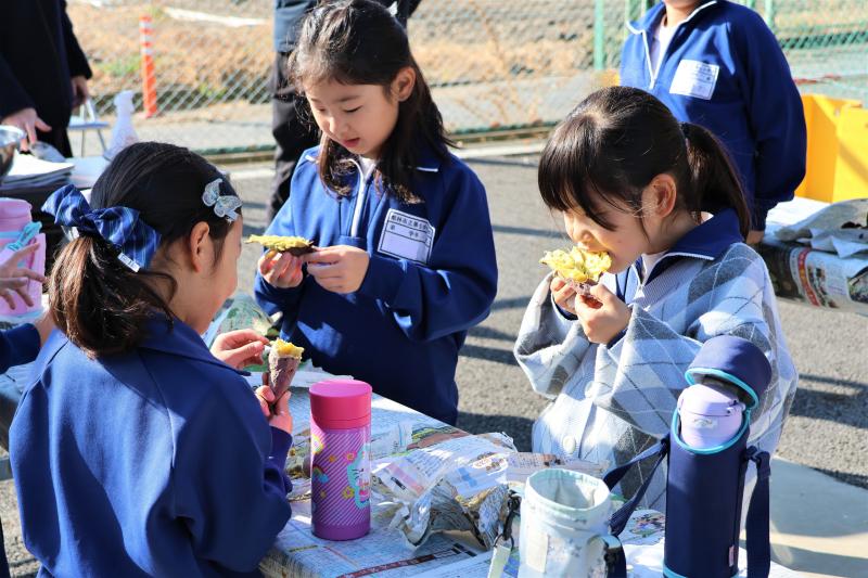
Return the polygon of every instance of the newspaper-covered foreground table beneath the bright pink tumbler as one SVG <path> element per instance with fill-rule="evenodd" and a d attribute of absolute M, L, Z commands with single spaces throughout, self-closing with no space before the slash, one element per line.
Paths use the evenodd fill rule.
<path fill-rule="evenodd" d="M 293 387 L 291 410 L 294 420 L 294 436 L 304 445 L 305 436 L 309 434 L 309 398 L 304 388 Z M 472 436 L 458 428 L 438 422 L 432 418 L 420 414 L 409 408 L 374 396 L 372 401 L 372 439 L 371 453 L 376 457 L 390 449 L 399 448 L 394 455 L 407 455 L 409 451 L 419 453 L 425 451 L 425 459 L 418 458 L 412 466 L 419 467 L 422 475 L 429 479 L 444 475 L 445 465 L 451 464 L 447 478 L 452 484 L 460 486 L 461 491 L 468 493 L 489 484 L 490 476 L 497 470 L 497 461 L 475 461 L 467 464 L 474 457 L 485 450 L 486 444 L 501 455 L 510 454 L 510 450 L 498 447 L 485 436 Z M 404 438 L 404 439 L 401 439 Z M 379 444 L 379 449 L 375 447 Z M 296 451 L 298 448 L 294 448 Z M 512 450 L 510 457 L 528 455 L 520 454 Z M 539 454 L 535 454 L 539 455 Z M 390 461 L 390 457 L 374 460 L 381 468 L 400 463 L 408 467 L 407 461 Z M 292 463 L 292 457 L 290 459 Z M 487 467 L 478 467 L 485 463 Z M 526 461 L 523 463 L 527 463 Z M 547 464 L 548 465 L 548 464 Z M 378 465 L 374 465 L 376 471 Z M 518 468 L 521 470 L 521 468 Z M 525 472 L 526 474 L 527 472 Z M 382 474 L 381 474 L 382 475 Z M 460 478 L 461 481 L 456 481 Z M 308 484 L 305 479 L 294 476 L 293 496 L 298 497 Z M 471 489 L 472 488 L 472 489 Z M 490 550 L 480 544 L 469 531 L 443 531 L 426 535 L 426 539 L 418 548 L 413 548 L 408 537 L 407 528 L 401 531 L 394 527 L 395 517 L 383 515 L 382 506 L 372 498 L 371 531 L 368 536 L 346 542 L 322 540 L 315 537 L 310 529 L 310 501 L 306 498 L 295 499 L 292 502 L 293 516 L 277 538 L 277 541 L 260 562 L 259 569 L 266 577 L 323 577 L 323 578 L 357 578 L 363 576 L 378 576 L 386 578 L 485 578 L 488 576 Z M 502 498 L 502 496 L 500 496 Z M 490 505 L 490 504 L 489 504 Z M 494 508 L 494 506 L 492 506 Z M 405 512 L 406 514 L 406 512 Z M 480 517 L 494 516 L 502 519 L 501 512 L 494 508 L 488 512 L 481 512 Z M 458 516 L 449 517 L 441 527 L 449 524 L 459 526 Z M 433 524 L 435 527 L 436 523 Z M 518 521 L 514 528 L 518 531 Z M 455 527 L 455 526 L 452 526 Z M 629 575 L 635 578 L 661 576 L 663 561 L 663 530 L 664 516 L 658 512 L 636 512 L 623 532 L 625 552 L 629 564 Z M 510 563 L 503 576 L 516 577 L 519 561 L 518 547 L 513 551 Z M 746 561 L 742 551 L 740 560 Z M 742 571 L 741 576 L 744 576 Z M 773 578 L 790 578 L 797 576 L 795 573 L 773 564 Z"/>

